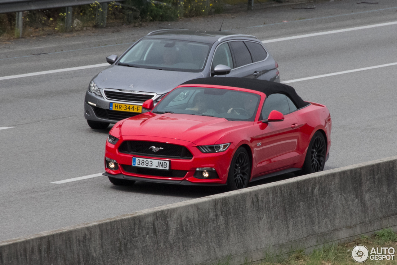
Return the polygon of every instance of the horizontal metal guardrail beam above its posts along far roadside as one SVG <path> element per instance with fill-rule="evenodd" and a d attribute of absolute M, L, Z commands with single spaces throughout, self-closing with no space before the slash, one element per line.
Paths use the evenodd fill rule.
<path fill-rule="evenodd" d="M 106 3 L 109 0 L 0 0 L 0 14 L 38 9 L 81 6 L 93 2 Z"/>

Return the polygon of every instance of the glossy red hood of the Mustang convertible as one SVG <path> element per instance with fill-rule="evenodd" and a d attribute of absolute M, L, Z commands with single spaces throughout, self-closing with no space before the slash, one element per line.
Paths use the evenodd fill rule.
<path fill-rule="evenodd" d="M 251 122 L 227 121 L 224 118 L 199 115 L 166 113 L 156 115 L 144 113 L 131 117 L 116 125 L 112 131 L 119 129 L 119 134 L 144 135 L 173 138 L 193 142 L 197 145 L 216 144 L 225 134 L 241 129 Z"/>

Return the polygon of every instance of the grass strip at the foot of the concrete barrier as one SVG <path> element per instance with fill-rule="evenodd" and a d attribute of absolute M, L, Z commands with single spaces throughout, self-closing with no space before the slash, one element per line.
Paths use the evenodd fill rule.
<path fill-rule="evenodd" d="M 315 249 L 310 254 L 305 255 L 304 250 L 297 250 L 288 256 L 268 254 L 262 263 L 252 263 L 255 265 L 357 265 L 351 257 L 353 247 L 364 245 L 371 251 L 372 247 L 394 247 L 397 249 L 397 234 L 391 229 L 383 229 L 375 232 L 372 236 L 361 236 L 353 242 L 334 244 Z M 218 264 L 221 265 L 222 263 Z M 251 265 L 251 263 L 246 263 Z M 394 260 L 370 260 L 365 265 L 395 265 L 397 264 L 397 253 Z M 226 264 L 227 265 L 227 264 Z"/>

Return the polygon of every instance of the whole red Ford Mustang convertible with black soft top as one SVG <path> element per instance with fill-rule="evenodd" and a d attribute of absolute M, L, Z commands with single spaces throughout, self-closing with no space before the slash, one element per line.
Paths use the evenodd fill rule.
<path fill-rule="evenodd" d="M 227 185 L 324 169 L 331 146 L 327 107 L 291 86 L 247 78 L 199 78 L 178 86 L 146 113 L 110 130 L 104 175 L 135 181 Z"/>

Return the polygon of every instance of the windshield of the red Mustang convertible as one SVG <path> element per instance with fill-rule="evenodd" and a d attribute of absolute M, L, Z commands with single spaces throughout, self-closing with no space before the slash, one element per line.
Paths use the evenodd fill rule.
<path fill-rule="evenodd" d="M 260 95 L 219 88 L 177 88 L 166 95 L 153 113 L 180 113 L 254 121 Z"/>

